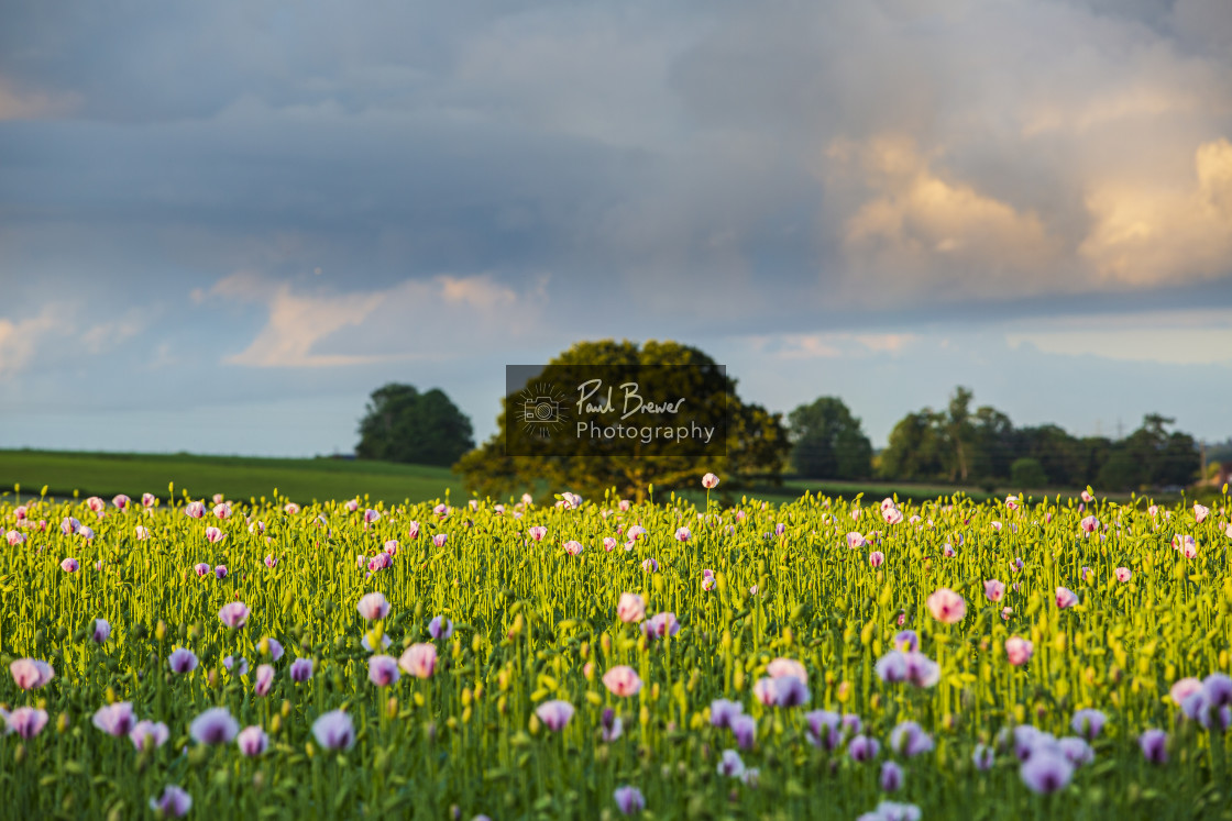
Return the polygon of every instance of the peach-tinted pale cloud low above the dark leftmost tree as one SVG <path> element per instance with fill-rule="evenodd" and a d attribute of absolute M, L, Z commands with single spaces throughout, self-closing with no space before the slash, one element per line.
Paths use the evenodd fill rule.
<path fill-rule="evenodd" d="M 533 336 L 541 330 L 545 286 L 542 279 L 535 289 L 519 293 L 489 274 L 439 274 L 338 293 L 237 272 L 214 283 L 208 295 L 266 309 L 265 326 L 225 363 L 336 368 L 448 359 Z"/>

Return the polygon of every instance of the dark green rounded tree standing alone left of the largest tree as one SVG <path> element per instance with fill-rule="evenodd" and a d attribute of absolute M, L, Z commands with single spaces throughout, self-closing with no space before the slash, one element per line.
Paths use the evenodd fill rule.
<path fill-rule="evenodd" d="M 399 383 L 372 391 L 359 433 L 361 459 L 451 465 L 474 447 L 471 420 L 442 390 Z"/>

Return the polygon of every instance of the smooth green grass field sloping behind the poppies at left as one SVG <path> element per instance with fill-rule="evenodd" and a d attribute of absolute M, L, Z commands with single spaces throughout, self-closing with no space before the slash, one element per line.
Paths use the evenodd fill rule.
<path fill-rule="evenodd" d="M 168 496 L 187 491 L 193 499 L 223 494 L 227 499 L 272 496 L 274 489 L 293 501 L 352 499 L 365 494 L 387 503 L 462 497 L 462 484 L 446 468 L 399 465 L 347 459 L 262 459 L 202 457 L 186 453 L 71 453 L 58 451 L 0 451 L 0 487 L 21 485 L 22 497 L 127 494 L 140 499 L 152 492 Z"/>

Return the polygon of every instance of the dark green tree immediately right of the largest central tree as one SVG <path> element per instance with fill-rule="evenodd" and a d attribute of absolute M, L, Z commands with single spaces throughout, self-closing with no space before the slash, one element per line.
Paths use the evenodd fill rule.
<path fill-rule="evenodd" d="M 787 417 L 791 460 L 809 479 L 867 479 L 872 474 L 872 443 L 860 420 L 837 396 L 801 405 Z"/>

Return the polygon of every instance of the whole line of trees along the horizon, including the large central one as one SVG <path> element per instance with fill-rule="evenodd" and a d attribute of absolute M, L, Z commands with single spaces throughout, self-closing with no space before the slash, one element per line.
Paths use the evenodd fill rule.
<path fill-rule="evenodd" d="M 1019 489 L 1084 487 L 1138 490 L 1186 486 L 1198 479 L 1194 437 L 1172 430 L 1174 420 L 1149 414 L 1129 436 L 1076 437 L 1057 425 L 1015 427 L 995 407 L 973 407 L 973 394 L 958 386 L 941 410 L 924 407 L 894 425 L 887 447 L 875 453 L 859 417 L 837 396 L 796 407 L 784 420 L 740 399 L 737 380 L 706 353 L 676 342 L 579 342 L 556 357 L 540 378 L 567 379 L 579 366 L 637 368 L 660 380 L 662 395 L 680 393 L 687 373 L 690 396 L 707 396 L 702 421 L 723 415 L 726 447 L 681 454 L 648 443 L 631 452 L 618 443 L 585 447 L 558 438 L 532 452 L 510 453 L 522 409 L 501 401 L 498 431 L 476 446 L 471 420 L 440 389 L 420 393 L 391 383 L 372 393 L 360 422 L 356 455 L 414 464 L 453 467 L 474 492 L 500 495 L 545 483 L 579 492 L 638 495 L 654 483 L 681 486 L 706 471 L 728 476 L 726 487 L 779 484 L 790 470 L 802 479 L 942 483 Z M 681 369 L 684 368 L 684 370 Z M 650 375 L 646 375 L 650 374 Z M 648 395 L 655 385 L 646 385 Z M 706 416 L 706 415 L 710 416 Z M 660 421 L 671 421 L 663 417 Z M 634 455 L 631 455 L 634 454 Z"/>

